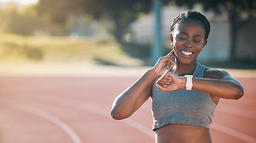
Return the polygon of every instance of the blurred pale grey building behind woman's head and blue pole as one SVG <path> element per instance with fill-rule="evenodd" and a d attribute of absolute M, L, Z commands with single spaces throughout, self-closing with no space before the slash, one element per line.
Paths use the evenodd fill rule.
<path fill-rule="evenodd" d="M 186 8 L 163 7 L 162 8 L 162 40 L 163 45 L 170 45 L 170 26 L 177 14 L 186 11 Z M 210 21 L 211 31 L 207 45 L 203 48 L 198 61 L 228 61 L 230 59 L 230 26 L 225 14 L 215 15 L 212 12 L 204 12 L 200 7 L 194 10 L 203 13 Z M 132 42 L 150 45 L 153 38 L 154 15 L 138 19 L 129 27 Z M 252 21 L 241 29 L 239 42 L 237 43 L 237 57 L 240 60 L 256 60 L 256 21 Z M 238 54 L 239 53 L 239 54 Z"/>

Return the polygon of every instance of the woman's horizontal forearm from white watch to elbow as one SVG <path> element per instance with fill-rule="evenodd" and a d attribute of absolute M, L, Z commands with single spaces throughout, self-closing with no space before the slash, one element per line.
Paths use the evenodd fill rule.
<path fill-rule="evenodd" d="M 236 82 L 221 79 L 192 79 L 192 89 L 207 92 L 220 98 L 236 99 L 243 96 L 243 87 Z"/>

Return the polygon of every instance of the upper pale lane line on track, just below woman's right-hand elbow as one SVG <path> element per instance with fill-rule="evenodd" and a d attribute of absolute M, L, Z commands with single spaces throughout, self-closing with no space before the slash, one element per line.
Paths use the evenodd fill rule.
<path fill-rule="evenodd" d="M 217 105 L 216 111 L 256 119 L 256 112 L 254 111 L 248 111 L 236 107 L 229 107 L 227 105 Z"/>

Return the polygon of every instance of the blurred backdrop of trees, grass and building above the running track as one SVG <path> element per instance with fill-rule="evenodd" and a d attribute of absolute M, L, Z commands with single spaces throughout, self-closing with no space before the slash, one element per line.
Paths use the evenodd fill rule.
<path fill-rule="evenodd" d="M 1 73 L 65 70 L 62 64 L 153 66 L 172 49 L 173 18 L 188 9 L 201 11 L 211 24 L 200 63 L 255 69 L 255 0 L 1 0 Z"/>

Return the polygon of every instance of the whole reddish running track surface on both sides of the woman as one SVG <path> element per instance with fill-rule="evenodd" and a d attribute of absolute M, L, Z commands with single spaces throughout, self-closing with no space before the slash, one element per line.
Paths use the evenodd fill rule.
<path fill-rule="evenodd" d="M 0 77 L 0 142 L 155 142 L 150 100 L 128 119 L 110 116 L 115 97 L 137 80 L 92 77 Z M 221 100 L 213 142 L 256 142 L 256 78 L 237 78 L 240 100 Z"/>

